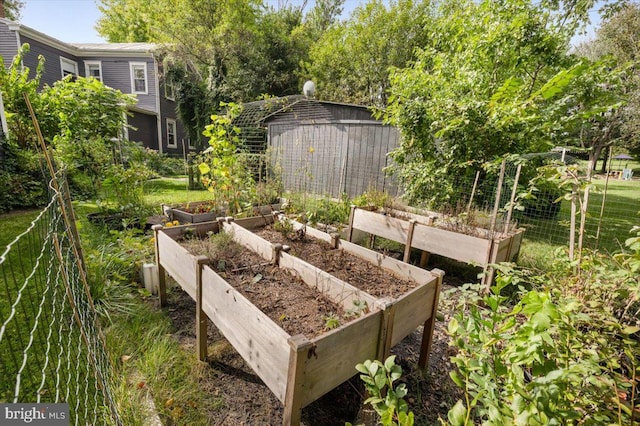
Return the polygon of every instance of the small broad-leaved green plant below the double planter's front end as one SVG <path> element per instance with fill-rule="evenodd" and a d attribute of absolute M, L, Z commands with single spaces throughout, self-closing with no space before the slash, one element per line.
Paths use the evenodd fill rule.
<path fill-rule="evenodd" d="M 394 384 L 402 377 L 402 368 L 395 363 L 395 359 L 396 356 L 391 355 L 384 363 L 366 360 L 356 365 L 369 394 L 364 403 L 371 404 L 376 410 L 383 426 L 412 426 L 414 415 L 404 400 L 407 387 L 404 383 Z"/>

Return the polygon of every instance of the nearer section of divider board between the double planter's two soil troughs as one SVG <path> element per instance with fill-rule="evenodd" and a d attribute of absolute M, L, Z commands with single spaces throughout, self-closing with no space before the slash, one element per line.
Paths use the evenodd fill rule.
<path fill-rule="evenodd" d="M 340 303 L 345 309 L 353 308 L 354 301 L 365 301 L 370 307 L 377 301 L 368 293 L 288 253 L 280 253 L 280 267 L 300 277 L 309 287 Z"/>

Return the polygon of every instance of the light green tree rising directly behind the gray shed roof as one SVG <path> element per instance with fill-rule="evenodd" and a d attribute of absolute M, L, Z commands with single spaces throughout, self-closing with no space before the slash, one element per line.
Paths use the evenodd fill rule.
<path fill-rule="evenodd" d="M 322 99 L 383 106 L 389 68 L 404 68 L 415 58 L 415 49 L 428 40 L 431 18 L 428 1 L 399 0 L 387 7 L 371 0 L 311 47 L 305 75 Z"/>

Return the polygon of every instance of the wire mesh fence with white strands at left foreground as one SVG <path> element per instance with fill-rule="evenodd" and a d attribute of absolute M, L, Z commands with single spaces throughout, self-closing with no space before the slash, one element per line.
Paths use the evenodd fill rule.
<path fill-rule="evenodd" d="M 0 402 L 68 403 L 70 424 L 120 424 L 110 362 L 65 214 L 67 186 L 0 256 Z"/>

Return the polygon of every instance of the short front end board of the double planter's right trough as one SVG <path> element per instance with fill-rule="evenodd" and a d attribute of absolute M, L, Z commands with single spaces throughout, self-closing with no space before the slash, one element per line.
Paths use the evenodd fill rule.
<path fill-rule="evenodd" d="M 431 318 L 437 281 L 437 277 L 434 276 L 433 282 L 417 287 L 396 300 L 391 346 L 398 344 Z"/>

